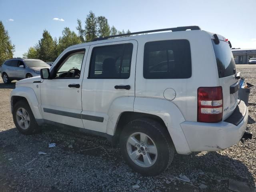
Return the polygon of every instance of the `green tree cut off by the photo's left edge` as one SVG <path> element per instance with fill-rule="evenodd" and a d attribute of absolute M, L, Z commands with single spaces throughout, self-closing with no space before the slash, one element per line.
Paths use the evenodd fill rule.
<path fill-rule="evenodd" d="M 10 40 L 8 31 L 5 30 L 2 21 L 0 20 L 0 66 L 6 59 L 13 57 L 15 46 Z"/>

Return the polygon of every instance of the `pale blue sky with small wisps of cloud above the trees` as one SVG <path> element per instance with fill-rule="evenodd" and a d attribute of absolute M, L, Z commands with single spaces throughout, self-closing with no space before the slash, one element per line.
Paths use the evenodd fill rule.
<path fill-rule="evenodd" d="M 131 32 L 198 25 L 221 34 L 233 48 L 256 48 L 256 0 L 0 0 L 0 20 L 22 54 L 42 38 L 44 29 L 59 37 L 76 30 L 90 10 L 110 26 Z"/>

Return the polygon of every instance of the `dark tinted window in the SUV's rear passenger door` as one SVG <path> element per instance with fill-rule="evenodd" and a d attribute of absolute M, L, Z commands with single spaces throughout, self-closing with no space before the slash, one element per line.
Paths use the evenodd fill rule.
<path fill-rule="evenodd" d="M 132 49 L 133 45 L 131 43 L 93 48 L 88 78 L 129 78 Z"/>

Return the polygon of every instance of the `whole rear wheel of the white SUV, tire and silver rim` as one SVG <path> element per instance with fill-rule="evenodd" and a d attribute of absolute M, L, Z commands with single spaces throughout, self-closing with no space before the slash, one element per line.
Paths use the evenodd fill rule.
<path fill-rule="evenodd" d="M 144 176 L 164 172 L 175 152 L 166 127 L 150 118 L 127 124 L 120 135 L 120 148 L 128 165 Z"/>

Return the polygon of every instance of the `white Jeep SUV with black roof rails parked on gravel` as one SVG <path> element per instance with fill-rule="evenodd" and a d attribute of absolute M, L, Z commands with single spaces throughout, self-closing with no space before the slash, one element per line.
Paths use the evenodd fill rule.
<path fill-rule="evenodd" d="M 41 77 L 16 82 L 14 123 L 23 134 L 49 123 L 104 136 L 132 169 L 159 174 L 175 151 L 223 150 L 243 136 L 248 108 L 230 47 L 198 26 L 71 46 Z"/>

